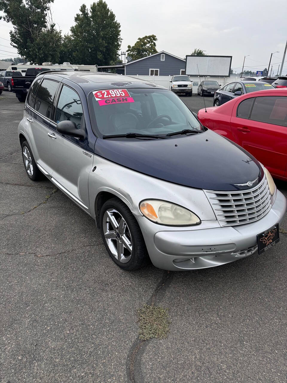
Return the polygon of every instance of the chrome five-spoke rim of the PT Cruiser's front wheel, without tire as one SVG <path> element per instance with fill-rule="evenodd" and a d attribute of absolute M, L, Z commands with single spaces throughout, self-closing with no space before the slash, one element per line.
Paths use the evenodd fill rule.
<path fill-rule="evenodd" d="M 132 257 L 132 237 L 122 215 L 115 209 L 108 209 L 103 216 L 103 232 L 109 250 L 121 263 Z"/>

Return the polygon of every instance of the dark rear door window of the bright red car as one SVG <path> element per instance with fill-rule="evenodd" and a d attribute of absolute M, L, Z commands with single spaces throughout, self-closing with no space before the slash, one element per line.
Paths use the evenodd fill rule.
<path fill-rule="evenodd" d="M 250 119 L 287 126 L 287 97 L 256 97 Z"/>

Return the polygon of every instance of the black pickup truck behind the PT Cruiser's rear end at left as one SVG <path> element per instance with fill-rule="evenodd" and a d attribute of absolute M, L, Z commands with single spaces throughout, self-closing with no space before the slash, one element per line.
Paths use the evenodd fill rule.
<path fill-rule="evenodd" d="M 28 93 L 28 90 L 30 88 L 31 83 L 34 81 L 36 76 L 44 72 L 46 70 L 52 70 L 49 68 L 28 68 L 26 70 L 25 76 L 12 76 L 11 78 L 11 85 L 12 85 L 12 92 L 16 93 L 16 97 L 20 102 L 25 102 L 26 96 Z"/>

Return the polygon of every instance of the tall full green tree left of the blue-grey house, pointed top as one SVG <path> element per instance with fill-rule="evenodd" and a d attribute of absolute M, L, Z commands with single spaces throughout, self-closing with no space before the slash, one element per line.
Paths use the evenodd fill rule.
<path fill-rule="evenodd" d="M 121 41 L 120 23 L 107 3 L 98 0 L 90 10 L 80 7 L 70 35 L 64 36 L 61 57 L 70 57 L 73 64 L 109 65 L 117 60 Z"/>

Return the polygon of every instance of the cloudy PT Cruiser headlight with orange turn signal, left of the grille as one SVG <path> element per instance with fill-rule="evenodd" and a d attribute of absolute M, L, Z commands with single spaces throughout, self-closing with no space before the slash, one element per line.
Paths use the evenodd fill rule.
<path fill-rule="evenodd" d="M 146 218 L 161 225 L 190 226 L 201 223 L 192 211 L 167 201 L 145 200 L 139 208 Z"/>

